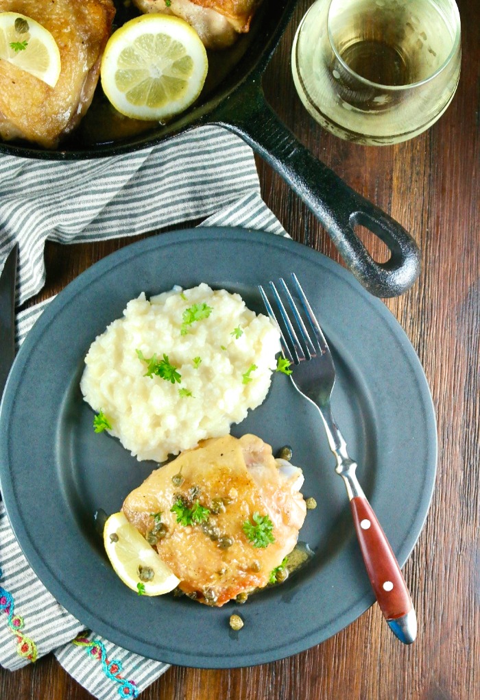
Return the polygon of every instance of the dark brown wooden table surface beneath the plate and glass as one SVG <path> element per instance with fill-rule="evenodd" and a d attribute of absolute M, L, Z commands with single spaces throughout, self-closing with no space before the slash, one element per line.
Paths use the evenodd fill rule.
<path fill-rule="evenodd" d="M 265 666 L 170 668 L 142 694 L 153 700 L 477 700 L 480 698 L 480 3 L 460 0 L 462 75 L 428 132 L 397 146 L 357 146 L 324 132 L 294 90 L 289 54 L 309 6 L 301 1 L 263 81 L 268 101 L 318 158 L 411 231 L 423 255 L 413 288 L 385 303 L 416 348 L 438 418 L 439 463 L 425 527 L 404 567 L 418 614 L 405 647 L 373 605 L 323 644 Z M 296 240 L 339 260 L 306 207 L 261 160 L 263 198 Z M 132 239 L 46 248 L 47 283 L 59 291 Z M 371 241 L 367 244 L 371 246 Z M 371 246 L 377 258 L 380 246 Z M 10 673 L 1 700 L 86 700 L 50 654 Z"/>

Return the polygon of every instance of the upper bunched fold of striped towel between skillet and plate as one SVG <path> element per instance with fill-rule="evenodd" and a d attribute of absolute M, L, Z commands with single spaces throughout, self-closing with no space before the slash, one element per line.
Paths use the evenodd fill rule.
<path fill-rule="evenodd" d="M 0 273 L 19 244 L 17 304 L 45 283 L 45 243 L 132 236 L 198 221 L 260 192 L 254 156 L 219 127 L 78 162 L 0 157 Z"/>

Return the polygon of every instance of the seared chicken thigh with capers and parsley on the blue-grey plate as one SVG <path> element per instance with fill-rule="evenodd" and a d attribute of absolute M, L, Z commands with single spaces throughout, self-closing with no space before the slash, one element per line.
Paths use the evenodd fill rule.
<path fill-rule="evenodd" d="M 122 510 L 179 578 L 181 590 L 201 603 L 223 605 L 266 586 L 294 549 L 306 516 L 302 481 L 297 468 L 284 475 L 259 437 L 226 435 L 154 471 Z M 197 512 L 198 519 L 181 521 L 181 512 Z M 252 539 L 256 522 L 269 523 L 261 527 L 270 535 L 260 544 Z"/>

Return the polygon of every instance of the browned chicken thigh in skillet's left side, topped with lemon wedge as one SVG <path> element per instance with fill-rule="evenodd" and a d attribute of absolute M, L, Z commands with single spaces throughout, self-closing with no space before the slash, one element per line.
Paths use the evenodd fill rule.
<path fill-rule="evenodd" d="M 92 101 L 100 59 L 110 36 L 112 0 L 0 0 L 0 12 L 18 12 L 53 35 L 62 70 L 55 87 L 0 59 L 0 137 L 55 148 Z"/>

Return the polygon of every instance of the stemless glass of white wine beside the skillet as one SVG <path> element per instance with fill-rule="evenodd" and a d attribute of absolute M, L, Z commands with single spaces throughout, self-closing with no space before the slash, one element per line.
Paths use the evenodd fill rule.
<path fill-rule="evenodd" d="M 382 145 L 420 134 L 444 113 L 460 57 L 454 0 L 317 0 L 296 32 L 292 72 L 322 126 Z"/>

